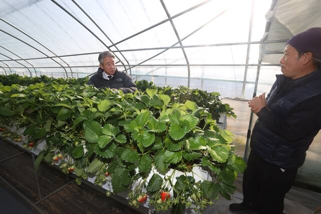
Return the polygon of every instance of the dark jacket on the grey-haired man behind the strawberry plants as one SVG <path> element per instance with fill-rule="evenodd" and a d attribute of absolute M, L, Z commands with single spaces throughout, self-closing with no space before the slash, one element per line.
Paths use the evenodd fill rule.
<path fill-rule="evenodd" d="M 120 89 L 124 93 L 133 93 L 137 91 L 136 84 L 132 82 L 130 76 L 123 71 L 116 71 L 113 78 L 106 80 L 102 76 L 104 72 L 101 68 L 98 68 L 96 74 L 94 74 L 88 81 L 88 85 L 95 85 L 96 88 L 115 88 Z"/>

